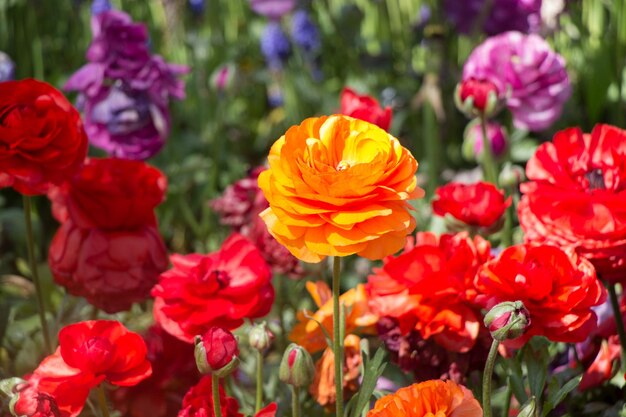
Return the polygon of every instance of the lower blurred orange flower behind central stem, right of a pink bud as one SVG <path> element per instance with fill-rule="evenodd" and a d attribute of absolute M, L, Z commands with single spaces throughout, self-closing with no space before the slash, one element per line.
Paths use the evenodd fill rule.
<path fill-rule="evenodd" d="M 362 363 L 361 338 L 350 334 L 344 340 L 343 388 L 345 394 L 353 394 L 359 389 L 359 375 Z M 321 406 L 335 404 L 335 355 L 331 348 L 326 348 L 324 354 L 315 364 L 315 376 L 309 392 Z"/>

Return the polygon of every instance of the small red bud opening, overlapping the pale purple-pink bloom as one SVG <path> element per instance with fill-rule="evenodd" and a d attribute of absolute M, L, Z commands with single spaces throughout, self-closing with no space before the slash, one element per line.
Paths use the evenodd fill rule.
<path fill-rule="evenodd" d="M 468 117 L 495 115 L 502 105 L 498 87 L 488 80 L 469 78 L 457 84 L 454 92 L 457 108 Z"/>

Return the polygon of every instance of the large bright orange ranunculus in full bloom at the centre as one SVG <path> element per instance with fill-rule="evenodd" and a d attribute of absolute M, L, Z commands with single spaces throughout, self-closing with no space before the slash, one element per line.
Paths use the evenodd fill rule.
<path fill-rule="evenodd" d="M 348 116 L 306 119 L 274 143 L 259 186 L 268 230 L 306 262 L 358 254 L 381 259 L 415 228 L 407 200 L 422 197 L 417 162 L 383 129 Z"/>

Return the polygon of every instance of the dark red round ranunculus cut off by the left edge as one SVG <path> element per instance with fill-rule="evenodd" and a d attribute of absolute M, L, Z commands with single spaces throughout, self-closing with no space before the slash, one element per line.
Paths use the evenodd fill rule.
<path fill-rule="evenodd" d="M 80 115 L 63 94 L 32 79 L 0 83 L 0 188 L 44 194 L 86 155 Z"/>

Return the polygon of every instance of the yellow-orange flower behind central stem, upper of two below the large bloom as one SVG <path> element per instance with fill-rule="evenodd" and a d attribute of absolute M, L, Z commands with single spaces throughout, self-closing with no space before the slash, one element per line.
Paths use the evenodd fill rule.
<path fill-rule="evenodd" d="M 330 288 L 326 283 L 309 281 L 306 283 L 306 288 L 319 310 L 315 314 L 299 312 L 299 323 L 291 331 L 289 340 L 302 346 L 310 353 L 315 353 L 326 347 L 326 338 L 319 323 L 332 337 L 333 302 Z M 367 294 L 363 284 L 359 284 L 342 294 L 339 297 L 339 302 L 346 309 L 346 334 L 355 333 L 359 330 L 365 333 L 375 333 L 373 326 L 378 321 L 378 316 L 373 314 L 368 307 Z M 308 319 L 307 315 L 313 319 Z"/>

